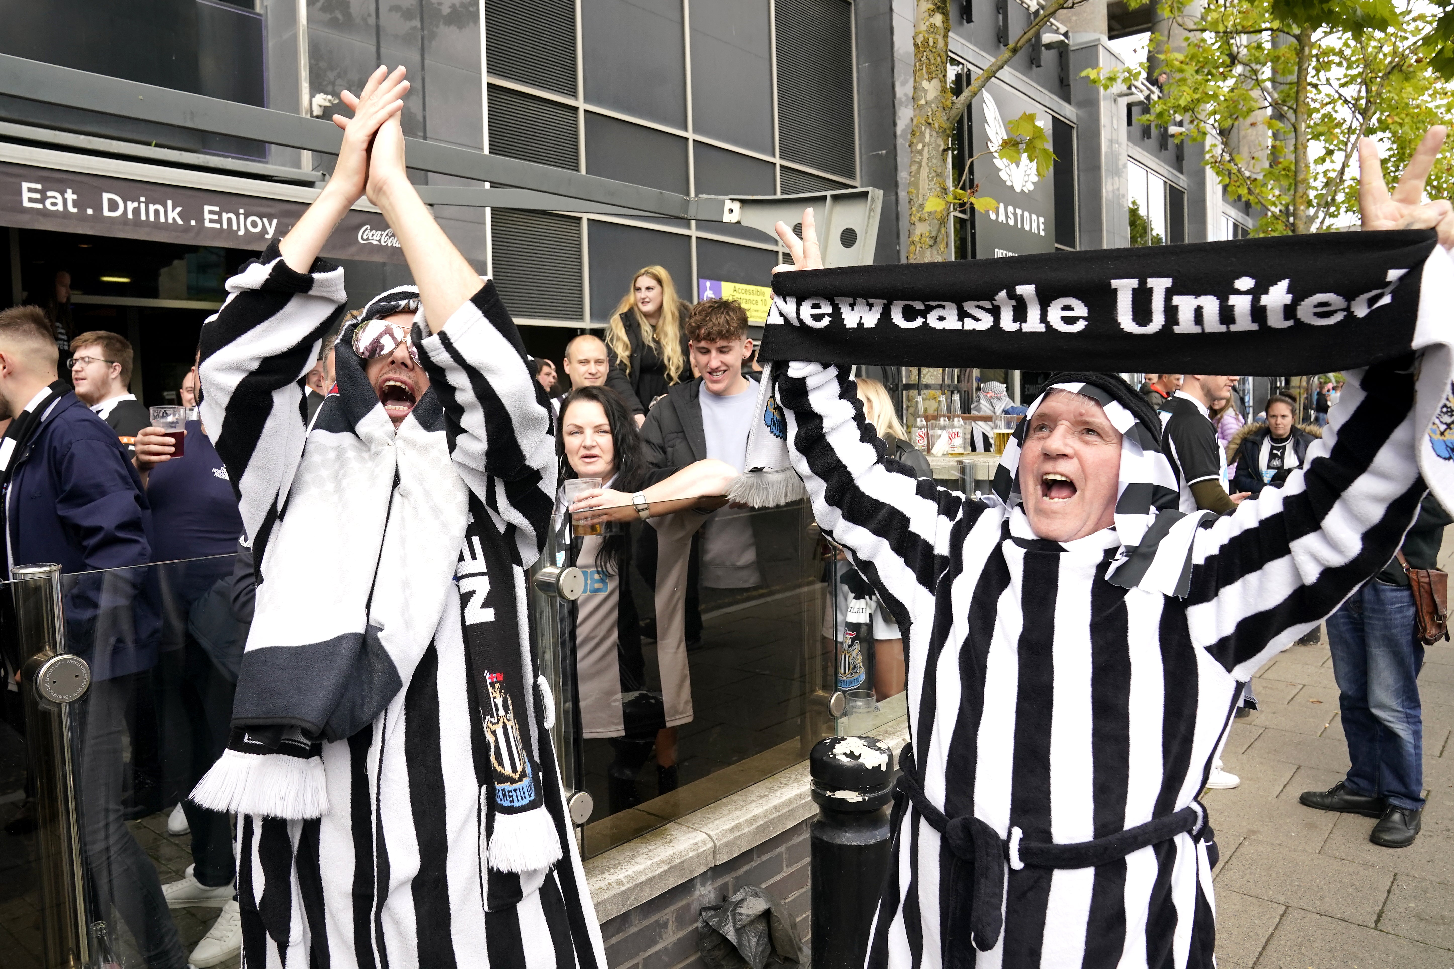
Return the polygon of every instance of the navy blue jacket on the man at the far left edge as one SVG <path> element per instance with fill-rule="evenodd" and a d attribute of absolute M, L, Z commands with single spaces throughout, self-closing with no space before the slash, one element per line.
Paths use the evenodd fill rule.
<path fill-rule="evenodd" d="M 67 394 L 16 461 L 4 504 L 7 567 L 124 569 L 63 581 L 67 639 L 97 680 L 153 665 L 156 607 L 142 603 L 147 569 L 137 568 L 151 559 L 151 507 L 116 431 Z"/>

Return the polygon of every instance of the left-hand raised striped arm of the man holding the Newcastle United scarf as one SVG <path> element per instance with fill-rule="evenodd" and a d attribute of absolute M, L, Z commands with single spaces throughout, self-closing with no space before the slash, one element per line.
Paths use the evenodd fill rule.
<path fill-rule="evenodd" d="M 803 212 L 801 240 L 782 222 L 776 230 L 794 269 L 822 267 L 813 209 Z M 933 596 L 954 538 L 974 524 L 984 506 L 885 461 L 846 370 L 792 362 L 776 378 L 776 394 L 792 468 L 807 487 L 819 527 L 848 549 L 904 625 L 915 599 Z"/>

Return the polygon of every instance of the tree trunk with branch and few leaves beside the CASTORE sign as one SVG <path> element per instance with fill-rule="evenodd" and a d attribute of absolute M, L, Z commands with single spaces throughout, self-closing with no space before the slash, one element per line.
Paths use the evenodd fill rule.
<path fill-rule="evenodd" d="M 949 0 L 915 0 L 913 20 L 913 119 L 909 125 L 909 261 L 936 263 L 949 259 L 949 215 L 957 206 L 973 205 L 984 212 L 995 199 L 979 196 L 977 186 L 948 185 L 949 144 L 955 122 L 992 77 L 1013 60 L 1050 17 L 1069 0 L 1047 0 L 1025 32 L 1000 51 L 958 94 L 949 90 Z M 983 154 L 1006 161 L 1029 155 L 1040 176 L 1050 171 L 1054 155 L 1044 128 L 1034 113 L 1005 125 L 1009 137 Z M 980 157 L 976 155 L 976 157 Z M 970 158 L 973 161 L 974 158 Z M 968 164 L 964 166 L 968 171 Z"/>

